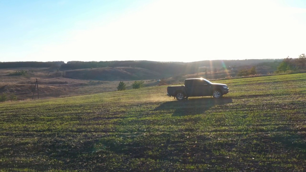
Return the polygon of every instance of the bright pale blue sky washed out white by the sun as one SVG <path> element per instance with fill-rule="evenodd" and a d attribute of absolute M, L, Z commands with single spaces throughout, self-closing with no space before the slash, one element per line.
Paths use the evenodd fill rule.
<path fill-rule="evenodd" d="M 0 0 L 0 62 L 304 53 L 306 0 Z"/>

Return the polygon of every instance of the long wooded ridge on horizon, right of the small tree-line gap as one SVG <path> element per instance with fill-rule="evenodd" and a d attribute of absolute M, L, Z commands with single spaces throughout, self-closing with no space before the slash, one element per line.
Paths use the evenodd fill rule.
<path fill-rule="evenodd" d="M 139 67 L 165 74 L 165 77 L 173 75 L 185 75 L 199 72 L 214 72 L 231 67 L 256 65 L 259 63 L 278 65 L 281 59 L 248 59 L 248 60 L 204 60 L 198 62 L 153 62 L 153 61 L 100 61 L 80 62 L 72 61 L 62 64 L 60 70 L 90 69 L 103 67 Z M 207 68 L 201 68 L 206 66 Z M 276 66 L 274 67 L 276 70 Z M 274 70 L 274 69 L 273 69 Z"/>

